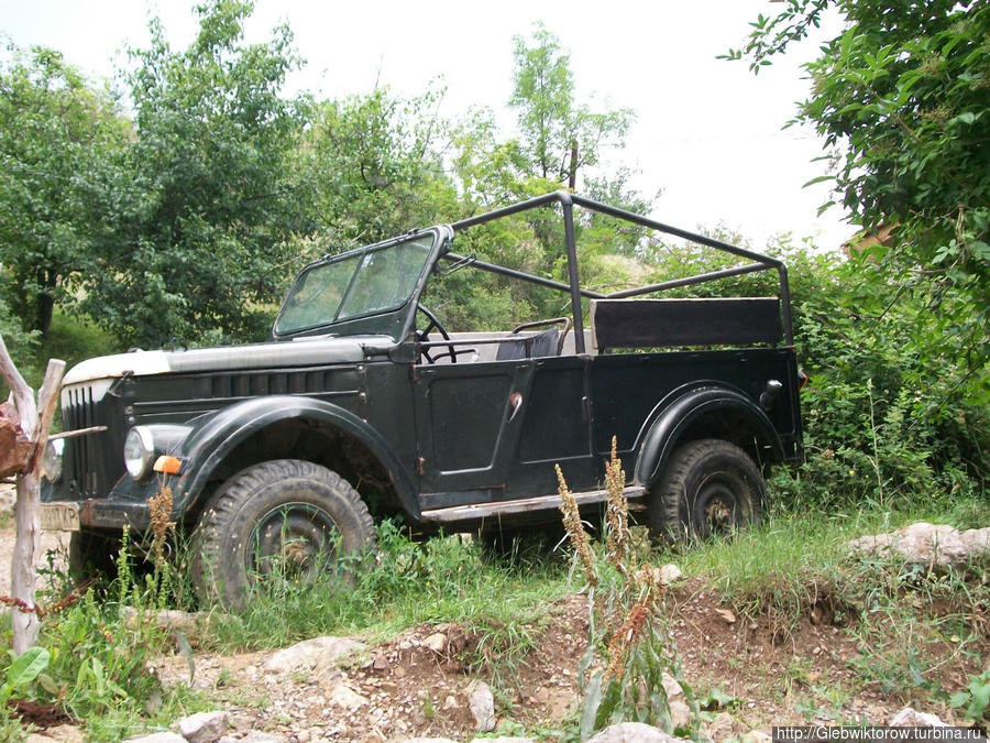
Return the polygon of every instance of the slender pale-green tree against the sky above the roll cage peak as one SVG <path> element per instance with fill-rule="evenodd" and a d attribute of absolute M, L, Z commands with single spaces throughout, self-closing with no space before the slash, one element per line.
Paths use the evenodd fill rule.
<path fill-rule="evenodd" d="M 509 106 L 518 110 L 529 175 L 574 189 L 579 168 L 597 164 L 605 146 L 624 143 L 632 111 L 620 108 L 595 113 L 579 103 L 570 55 L 542 24 L 536 25 L 531 45 L 521 36 L 514 41 Z"/>

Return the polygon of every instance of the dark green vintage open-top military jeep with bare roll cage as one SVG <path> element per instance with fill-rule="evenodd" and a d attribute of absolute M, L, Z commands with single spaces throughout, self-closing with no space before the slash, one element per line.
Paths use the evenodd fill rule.
<path fill-rule="evenodd" d="M 575 207 L 743 262 L 591 291 Z M 455 252 L 472 228 L 530 209 L 562 219 L 568 283 Z M 448 332 L 429 288 L 459 269 L 557 292 L 564 316 Z M 777 296 L 656 298 L 767 270 Z M 273 559 L 311 573 L 321 554 L 372 545 L 372 514 L 483 535 L 556 520 L 556 463 L 593 510 L 615 436 L 647 523 L 703 536 L 758 518 L 762 473 L 802 458 L 799 386 L 780 261 L 554 193 L 306 266 L 272 342 L 75 367 L 42 520 L 74 531 L 77 562 L 99 561 L 124 525 L 147 529 L 167 484 L 172 521 L 199 540 L 197 586 L 238 603 Z"/>

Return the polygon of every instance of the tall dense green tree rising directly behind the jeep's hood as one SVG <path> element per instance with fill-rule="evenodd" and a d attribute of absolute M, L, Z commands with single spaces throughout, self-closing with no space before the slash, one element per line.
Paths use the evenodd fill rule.
<path fill-rule="evenodd" d="M 251 11 L 209 0 L 187 50 L 153 21 L 150 48 L 133 53 L 136 139 L 107 176 L 110 227 L 85 301 L 127 342 L 263 338 L 289 241 L 311 227 L 290 167 L 306 105 L 279 95 L 292 34 L 245 44 Z"/>

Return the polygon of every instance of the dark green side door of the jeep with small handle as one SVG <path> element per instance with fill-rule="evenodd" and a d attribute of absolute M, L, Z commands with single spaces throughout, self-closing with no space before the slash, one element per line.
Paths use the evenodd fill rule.
<path fill-rule="evenodd" d="M 417 365 L 414 387 L 426 507 L 553 493 L 557 462 L 591 471 L 579 357 Z"/>

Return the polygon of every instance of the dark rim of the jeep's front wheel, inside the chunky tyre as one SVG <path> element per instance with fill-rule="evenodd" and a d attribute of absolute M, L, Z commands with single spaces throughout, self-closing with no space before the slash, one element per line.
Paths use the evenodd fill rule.
<path fill-rule="evenodd" d="M 262 516 L 251 535 L 249 567 L 260 579 L 305 582 L 337 561 L 340 532 L 310 503 L 284 503 Z"/>

